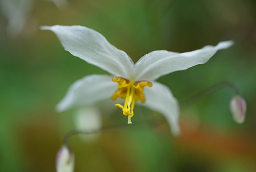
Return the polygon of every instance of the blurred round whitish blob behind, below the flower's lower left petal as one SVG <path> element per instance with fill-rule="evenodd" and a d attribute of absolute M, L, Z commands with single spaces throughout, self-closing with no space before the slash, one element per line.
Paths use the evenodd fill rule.
<path fill-rule="evenodd" d="M 94 106 L 87 106 L 78 109 L 75 117 L 75 125 L 79 131 L 88 133 L 99 131 L 101 128 L 100 110 Z M 99 133 L 81 135 L 85 141 L 93 141 L 98 138 L 98 136 Z"/>

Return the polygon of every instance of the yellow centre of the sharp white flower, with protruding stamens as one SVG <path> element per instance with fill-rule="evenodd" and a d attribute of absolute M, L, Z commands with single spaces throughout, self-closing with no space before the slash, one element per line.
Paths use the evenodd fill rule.
<path fill-rule="evenodd" d="M 149 81 L 133 82 L 121 76 L 113 77 L 112 81 L 118 83 L 118 90 L 116 90 L 112 95 L 112 100 L 114 101 L 118 97 L 126 99 L 124 105 L 115 104 L 115 106 L 120 107 L 125 116 L 128 115 L 128 124 L 132 124 L 130 118 L 134 115 L 133 109 L 135 101 L 141 101 L 141 103 L 144 103 L 146 100 L 143 95 L 144 87 L 152 87 L 153 84 Z"/>

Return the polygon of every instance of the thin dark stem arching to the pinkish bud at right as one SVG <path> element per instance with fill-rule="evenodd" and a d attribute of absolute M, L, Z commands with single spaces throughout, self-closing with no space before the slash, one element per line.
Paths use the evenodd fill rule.
<path fill-rule="evenodd" d="M 222 88 L 225 87 L 229 87 L 234 91 L 234 94 L 239 95 L 239 91 L 236 87 L 236 85 L 234 85 L 232 82 L 229 81 L 224 81 L 224 82 L 220 82 L 217 83 L 215 85 L 212 85 L 211 87 L 199 92 L 198 94 L 196 94 L 195 96 L 190 97 L 189 99 L 186 99 L 185 101 L 182 101 L 180 104 L 182 107 L 184 106 L 189 106 L 192 103 L 195 103 L 196 101 L 198 101 L 198 99 L 205 97 L 209 94 L 212 94 L 213 92 L 216 92 Z"/>

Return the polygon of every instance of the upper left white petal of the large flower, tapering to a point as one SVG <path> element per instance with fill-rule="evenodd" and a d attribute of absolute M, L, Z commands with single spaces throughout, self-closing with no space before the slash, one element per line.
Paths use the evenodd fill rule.
<path fill-rule="evenodd" d="M 58 36 L 61 44 L 74 56 L 98 66 L 115 76 L 129 78 L 134 70 L 132 59 L 109 44 L 103 35 L 84 26 L 42 26 Z"/>

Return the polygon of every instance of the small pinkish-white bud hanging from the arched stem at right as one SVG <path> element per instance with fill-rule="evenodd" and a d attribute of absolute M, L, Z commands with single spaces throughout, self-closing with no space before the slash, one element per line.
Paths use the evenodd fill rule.
<path fill-rule="evenodd" d="M 234 121 L 239 124 L 244 123 L 246 113 L 246 102 L 241 96 L 234 96 L 230 101 L 230 111 Z"/>

